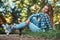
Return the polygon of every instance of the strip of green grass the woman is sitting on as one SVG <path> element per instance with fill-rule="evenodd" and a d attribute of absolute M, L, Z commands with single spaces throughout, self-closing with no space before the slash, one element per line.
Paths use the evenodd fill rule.
<path fill-rule="evenodd" d="M 58 38 L 60 37 L 60 30 L 52 31 L 52 32 L 31 32 L 31 31 L 26 31 L 23 30 L 24 35 L 29 35 L 32 37 L 45 37 L 45 38 Z"/>

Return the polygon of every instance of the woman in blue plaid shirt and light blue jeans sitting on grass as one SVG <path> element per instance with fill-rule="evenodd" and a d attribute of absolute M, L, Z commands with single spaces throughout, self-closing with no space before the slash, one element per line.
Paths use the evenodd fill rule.
<path fill-rule="evenodd" d="M 15 24 L 11 28 L 9 27 L 10 25 L 3 24 L 3 26 L 5 26 L 5 31 L 8 31 L 6 33 L 9 34 L 13 29 L 24 28 L 26 25 L 28 25 L 29 29 L 32 32 L 40 32 L 40 31 L 45 32 L 46 26 L 48 26 L 49 30 L 51 31 L 52 28 L 50 25 L 50 18 L 47 14 L 47 12 L 49 12 L 48 9 L 49 9 L 48 6 L 44 6 L 41 13 L 33 14 L 28 18 L 27 21 L 22 22 L 20 24 Z M 37 19 L 39 19 L 39 21 L 37 21 Z"/>

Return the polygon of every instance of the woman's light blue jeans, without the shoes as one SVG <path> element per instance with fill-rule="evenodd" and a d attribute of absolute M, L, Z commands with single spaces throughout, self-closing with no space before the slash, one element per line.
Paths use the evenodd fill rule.
<path fill-rule="evenodd" d="M 22 22 L 20 24 L 16 24 L 13 28 L 13 29 L 20 29 L 20 28 L 24 28 L 26 25 L 28 25 L 29 29 L 32 31 L 32 32 L 40 32 L 40 28 L 37 27 L 36 25 L 34 25 L 33 23 L 29 23 L 29 24 L 26 24 L 26 22 Z"/>

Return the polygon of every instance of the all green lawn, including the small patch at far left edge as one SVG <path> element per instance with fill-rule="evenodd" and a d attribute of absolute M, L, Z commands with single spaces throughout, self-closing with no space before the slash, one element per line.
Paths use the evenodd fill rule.
<path fill-rule="evenodd" d="M 0 28 L 0 34 L 5 34 L 4 30 Z M 15 33 L 13 33 L 15 34 Z M 37 38 L 48 38 L 48 39 L 59 39 L 60 38 L 60 30 L 56 31 L 46 31 L 46 32 L 32 32 L 29 29 L 28 30 L 23 30 L 22 35 L 29 35 L 30 37 L 37 37 Z"/>

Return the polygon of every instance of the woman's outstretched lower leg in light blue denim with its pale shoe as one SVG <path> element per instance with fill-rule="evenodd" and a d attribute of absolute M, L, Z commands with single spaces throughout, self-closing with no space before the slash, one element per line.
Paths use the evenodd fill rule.
<path fill-rule="evenodd" d="M 9 35 L 9 33 L 12 32 L 12 30 L 24 28 L 26 25 L 27 25 L 26 22 L 22 22 L 20 24 L 15 24 L 13 26 L 6 24 L 6 25 L 3 25 L 3 27 L 5 29 L 6 34 Z"/>

